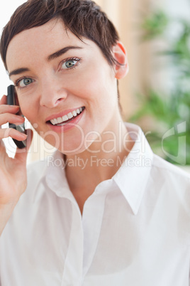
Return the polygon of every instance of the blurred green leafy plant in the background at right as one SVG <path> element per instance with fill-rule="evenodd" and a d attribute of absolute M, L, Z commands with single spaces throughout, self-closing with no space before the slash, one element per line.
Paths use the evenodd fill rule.
<path fill-rule="evenodd" d="M 176 24 L 180 27 L 178 36 L 168 37 L 166 32 Z M 190 23 L 184 19 L 171 19 L 163 11 L 156 11 L 145 18 L 142 28 L 143 41 L 162 36 L 167 43 L 169 48 L 160 51 L 157 56 L 164 55 L 169 60 L 173 74 L 173 88 L 163 96 L 160 91 L 147 86 L 146 94 L 138 95 L 141 103 L 140 110 L 130 118 L 130 121 L 140 124 L 148 117 L 149 122 L 154 122 L 154 128 L 147 135 L 154 152 L 162 154 L 164 159 L 174 164 L 190 164 Z M 177 126 L 181 122 L 184 122 L 186 129 L 179 133 Z M 150 126 L 143 129 L 148 132 Z M 162 142 L 164 134 L 173 129 L 175 134 Z M 184 146 L 181 144 L 179 146 L 179 137 L 186 139 Z M 162 152 L 163 149 L 165 152 Z M 184 150 L 179 152 L 179 149 Z M 174 160 L 178 155 L 181 158 Z"/>

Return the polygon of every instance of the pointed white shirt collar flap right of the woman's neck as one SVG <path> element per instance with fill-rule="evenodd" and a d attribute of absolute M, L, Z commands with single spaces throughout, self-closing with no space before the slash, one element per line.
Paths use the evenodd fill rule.
<path fill-rule="evenodd" d="M 113 180 L 125 196 L 133 213 L 137 214 L 150 176 L 153 152 L 140 127 L 130 123 L 125 123 L 125 126 L 135 144 L 121 168 L 113 176 Z"/>

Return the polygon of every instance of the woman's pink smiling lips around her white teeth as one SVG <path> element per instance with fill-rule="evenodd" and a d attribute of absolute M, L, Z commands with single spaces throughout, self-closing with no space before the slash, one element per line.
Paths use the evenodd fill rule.
<path fill-rule="evenodd" d="M 75 109 L 73 109 L 73 110 L 75 110 Z M 62 125 L 62 126 L 52 125 L 50 123 L 50 120 L 47 120 L 46 124 L 54 132 L 57 132 L 57 133 L 66 132 L 67 130 L 72 129 L 72 128 L 77 126 L 77 123 L 79 122 L 79 120 L 82 119 L 82 117 L 84 115 L 84 111 L 85 111 L 85 108 L 79 115 L 77 115 L 77 117 L 74 117 L 73 120 L 71 120 L 71 122 L 68 122 L 66 125 Z M 67 115 L 67 113 L 65 113 L 65 112 L 64 113 L 60 113 L 60 115 L 64 116 L 64 115 Z M 57 117 L 51 117 L 51 118 L 54 119 L 54 118 L 57 118 Z"/>

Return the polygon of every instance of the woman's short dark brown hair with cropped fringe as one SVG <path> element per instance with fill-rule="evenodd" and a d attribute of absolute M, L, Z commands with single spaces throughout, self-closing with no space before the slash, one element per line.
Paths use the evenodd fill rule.
<path fill-rule="evenodd" d="M 116 63 L 111 53 L 119 37 L 113 23 L 91 0 L 28 0 L 19 6 L 1 35 L 0 53 L 6 65 L 6 52 L 11 39 L 21 31 L 42 26 L 53 18 L 61 19 L 80 40 L 88 38 L 101 49 L 110 65 Z"/>

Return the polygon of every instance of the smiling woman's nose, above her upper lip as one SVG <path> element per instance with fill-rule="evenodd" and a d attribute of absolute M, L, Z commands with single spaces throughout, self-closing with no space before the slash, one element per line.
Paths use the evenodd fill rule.
<path fill-rule="evenodd" d="M 42 107 L 57 107 L 67 98 L 67 89 L 54 80 L 45 80 L 40 90 L 40 105 Z"/>

